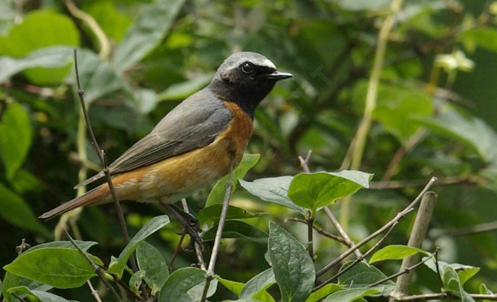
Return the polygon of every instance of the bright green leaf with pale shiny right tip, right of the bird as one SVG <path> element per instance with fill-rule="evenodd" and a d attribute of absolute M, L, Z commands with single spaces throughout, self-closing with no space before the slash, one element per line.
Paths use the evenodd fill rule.
<path fill-rule="evenodd" d="M 301 173 L 291 181 L 288 197 L 295 205 L 310 209 L 314 214 L 319 207 L 331 205 L 361 187 L 369 188 L 371 178 L 373 174 L 350 170 Z"/>

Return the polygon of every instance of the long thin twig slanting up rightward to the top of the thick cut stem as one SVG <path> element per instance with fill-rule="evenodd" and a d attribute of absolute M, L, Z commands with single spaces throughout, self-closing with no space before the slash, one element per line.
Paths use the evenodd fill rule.
<path fill-rule="evenodd" d="M 349 248 L 348 250 L 346 250 L 342 255 L 340 255 L 338 258 L 336 258 L 335 260 L 333 260 L 330 264 L 328 264 L 327 266 L 325 266 L 324 268 L 322 268 L 321 270 L 319 270 L 316 273 L 316 276 L 319 277 L 319 276 L 323 275 L 324 273 L 326 273 L 328 270 L 330 270 L 336 264 L 340 263 L 340 261 L 342 261 L 347 256 L 349 256 L 352 253 L 354 253 L 354 250 L 356 250 L 359 247 L 363 246 L 364 244 L 366 244 L 367 242 L 369 242 L 371 239 L 373 239 L 374 237 L 378 236 L 383 231 L 385 231 L 386 229 L 388 229 L 389 227 L 391 227 L 393 224 L 395 224 L 397 221 L 399 221 L 402 217 L 404 217 L 407 213 L 411 212 L 414 209 L 414 206 L 416 206 L 416 204 L 419 202 L 419 200 L 421 199 L 421 197 L 424 195 L 424 193 L 426 193 L 426 191 L 428 191 L 428 189 L 431 187 L 431 185 L 433 185 L 433 183 L 435 181 L 436 181 L 436 177 L 432 177 L 430 179 L 430 181 L 428 182 L 428 184 L 419 193 L 419 195 L 413 200 L 413 202 L 411 204 L 409 204 L 409 206 L 407 206 L 403 211 L 397 213 L 397 215 L 392 220 L 390 220 L 389 222 L 387 222 L 384 226 L 382 226 L 381 228 L 379 228 L 378 230 L 376 230 L 374 233 L 372 233 L 368 237 L 366 237 L 363 240 L 361 240 L 359 243 L 355 244 L 354 246 L 352 246 L 351 248 Z"/>

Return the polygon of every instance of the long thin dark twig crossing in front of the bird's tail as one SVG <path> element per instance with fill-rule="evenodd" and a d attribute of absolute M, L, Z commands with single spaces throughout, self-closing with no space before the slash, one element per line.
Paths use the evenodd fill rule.
<path fill-rule="evenodd" d="M 112 183 L 111 174 L 109 173 L 109 167 L 107 166 L 105 152 L 104 152 L 104 149 L 100 148 L 100 145 L 98 145 L 98 142 L 97 142 L 96 137 L 95 137 L 95 132 L 93 132 L 93 127 L 91 126 L 90 119 L 88 117 L 88 112 L 86 111 L 86 105 L 84 103 L 84 97 L 83 97 L 84 90 L 81 89 L 81 83 L 79 81 L 78 56 L 77 56 L 76 47 L 74 47 L 74 70 L 76 73 L 76 83 L 78 86 L 79 100 L 81 103 L 81 109 L 83 110 L 84 119 L 86 121 L 86 126 L 88 127 L 88 132 L 90 134 L 91 141 L 95 147 L 98 158 L 100 159 L 100 162 L 102 164 L 103 171 L 104 171 L 106 179 L 107 179 L 107 184 L 109 185 L 109 190 L 111 191 L 111 195 L 112 195 L 112 198 L 114 200 L 114 206 L 116 207 L 116 213 L 117 213 L 117 217 L 119 218 L 119 224 L 121 225 L 121 232 L 123 234 L 124 241 L 126 242 L 126 244 L 128 244 L 129 243 L 128 229 L 126 228 L 126 221 L 124 220 L 123 210 L 121 208 L 121 204 L 119 203 L 119 199 L 117 198 L 116 190 L 114 188 L 114 184 Z M 129 264 L 131 266 L 131 269 L 134 272 L 138 271 L 138 267 L 136 266 L 134 256 L 129 258 Z M 150 296 L 148 295 L 143 284 L 141 286 L 141 290 L 143 292 L 143 296 L 145 297 L 145 299 L 146 300 L 150 299 Z"/>

